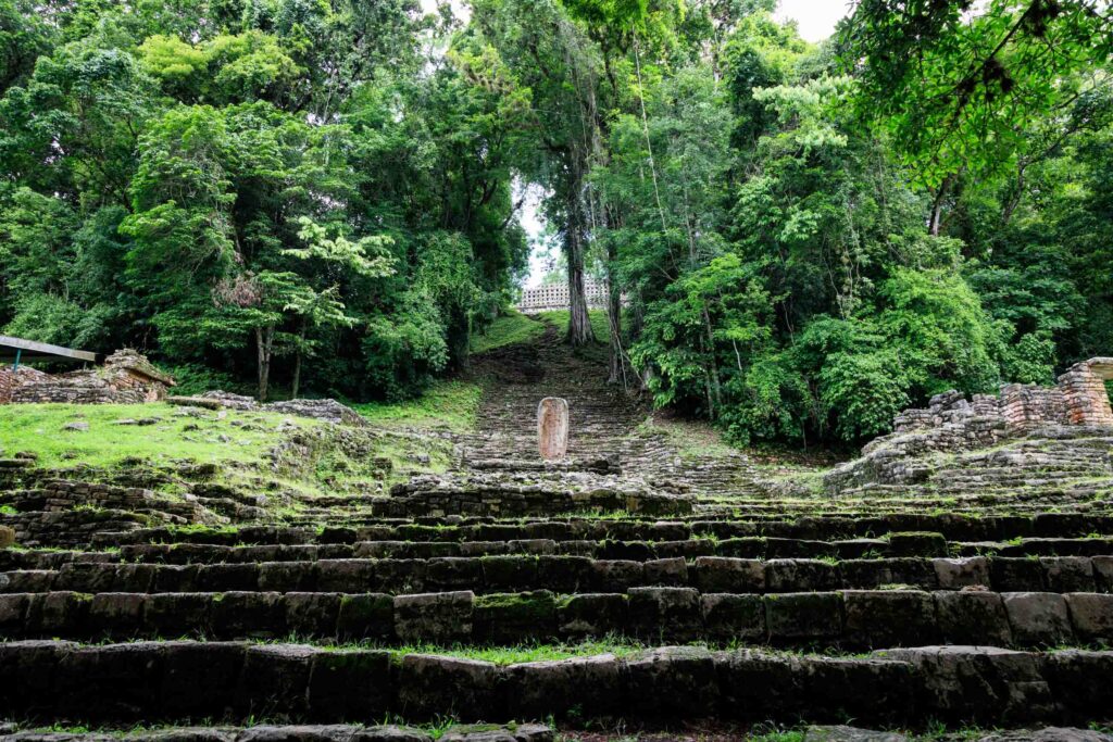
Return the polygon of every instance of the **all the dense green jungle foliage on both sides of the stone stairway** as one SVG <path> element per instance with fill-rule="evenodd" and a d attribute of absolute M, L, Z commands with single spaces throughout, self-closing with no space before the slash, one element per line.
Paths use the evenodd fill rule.
<path fill-rule="evenodd" d="M 0 327 L 406 395 L 489 347 L 516 179 L 569 338 L 738 442 L 1113 350 L 1106 4 L 860 0 L 819 46 L 774 6 L 0 0 Z"/>

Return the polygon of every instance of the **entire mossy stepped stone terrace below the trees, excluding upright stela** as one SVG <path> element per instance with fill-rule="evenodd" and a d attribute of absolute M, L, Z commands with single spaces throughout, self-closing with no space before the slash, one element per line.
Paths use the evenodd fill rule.
<path fill-rule="evenodd" d="M 1113 715 L 1113 429 L 892 438 L 824 479 L 684 449 L 552 330 L 475 373 L 444 471 L 287 511 L 6 459 L 0 733 L 972 739 Z M 570 402 L 565 462 L 535 454 L 543 396 Z"/>

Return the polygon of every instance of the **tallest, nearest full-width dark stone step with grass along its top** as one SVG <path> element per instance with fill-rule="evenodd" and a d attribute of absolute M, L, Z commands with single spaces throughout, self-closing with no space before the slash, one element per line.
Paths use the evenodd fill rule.
<path fill-rule="evenodd" d="M 436 654 L 239 642 L 0 644 L 0 714 L 144 723 L 599 716 L 916 725 L 1089 723 L 1113 653 L 923 646 L 868 657 L 660 647 L 498 665 Z"/>

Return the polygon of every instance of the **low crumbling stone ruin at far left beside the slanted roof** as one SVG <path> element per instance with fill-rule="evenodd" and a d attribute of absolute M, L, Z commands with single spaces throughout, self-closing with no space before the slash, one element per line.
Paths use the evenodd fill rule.
<path fill-rule="evenodd" d="M 174 379 L 146 356 L 124 349 L 108 356 L 104 366 L 65 374 L 6 368 L 0 372 L 0 403 L 141 404 L 164 399 L 173 386 Z"/>

